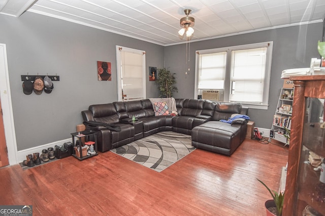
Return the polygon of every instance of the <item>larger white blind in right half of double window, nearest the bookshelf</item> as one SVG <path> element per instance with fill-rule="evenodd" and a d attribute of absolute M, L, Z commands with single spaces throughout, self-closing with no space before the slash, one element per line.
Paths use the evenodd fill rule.
<path fill-rule="evenodd" d="M 230 101 L 263 103 L 267 48 L 232 51 Z"/>

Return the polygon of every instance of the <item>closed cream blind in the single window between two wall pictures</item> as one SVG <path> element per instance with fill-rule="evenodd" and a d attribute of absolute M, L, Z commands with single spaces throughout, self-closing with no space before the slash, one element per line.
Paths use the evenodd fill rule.
<path fill-rule="evenodd" d="M 121 53 L 123 99 L 143 99 L 143 55 L 131 52 Z"/>

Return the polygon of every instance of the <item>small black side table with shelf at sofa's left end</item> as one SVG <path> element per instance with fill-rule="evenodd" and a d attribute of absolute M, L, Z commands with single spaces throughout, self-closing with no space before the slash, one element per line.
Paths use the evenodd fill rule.
<path fill-rule="evenodd" d="M 81 132 L 75 132 L 75 133 L 72 133 L 71 136 L 72 136 L 72 144 L 73 144 L 73 156 L 79 160 L 83 160 L 83 159 L 86 159 L 86 158 L 89 158 L 89 157 L 92 157 L 92 156 L 96 156 L 98 155 L 98 151 L 97 151 L 97 132 L 88 132 L 83 134 L 84 131 L 81 131 Z M 79 152 L 80 152 L 80 157 L 78 157 L 76 155 L 76 150 L 75 150 L 75 146 L 76 146 L 76 142 L 75 142 L 75 138 L 78 139 L 79 141 Z M 93 138 L 94 140 L 94 150 L 96 152 L 96 154 L 91 154 L 91 155 L 82 155 L 82 138 L 85 138 L 85 140 L 88 139 L 91 139 Z"/>

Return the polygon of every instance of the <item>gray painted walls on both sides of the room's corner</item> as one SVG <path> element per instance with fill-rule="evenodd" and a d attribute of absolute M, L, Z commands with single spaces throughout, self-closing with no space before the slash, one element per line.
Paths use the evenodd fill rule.
<path fill-rule="evenodd" d="M 191 42 L 190 72 L 185 75 L 185 44 L 158 46 L 122 35 L 26 12 L 19 18 L 0 15 L 0 43 L 7 46 L 8 68 L 18 150 L 70 138 L 80 112 L 91 104 L 117 100 L 115 46 L 146 51 L 149 66 L 168 67 L 177 75 L 175 98 L 193 98 L 195 51 L 274 41 L 268 110 L 251 109 L 248 115 L 258 127 L 271 128 L 282 87 L 281 71 L 309 67 L 310 58 L 319 57 L 317 41 L 322 23 L 308 25 L 306 40 L 298 42 L 300 27 L 287 27 L 218 39 Z M 299 52 L 305 57 L 297 58 Z M 96 61 L 112 63 L 112 81 L 98 81 Z M 166 63 L 165 63 L 165 62 Z M 148 72 L 148 71 L 147 71 Z M 59 75 L 51 94 L 24 95 L 20 75 Z M 159 74 L 158 74 L 159 76 Z M 147 97 L 158 97 L 155 82 L 147 79 Z"/>

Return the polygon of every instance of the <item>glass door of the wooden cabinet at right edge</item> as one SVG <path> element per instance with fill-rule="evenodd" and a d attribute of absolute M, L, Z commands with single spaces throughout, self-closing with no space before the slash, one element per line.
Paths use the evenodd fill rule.
<path fill-rule="evenodd" d="M 325 216 L 324 99 L 306 98 L 299 161 L 296 208 L 293 215 Z M 324 161 L 325 162 L 325 161 Z"/>

